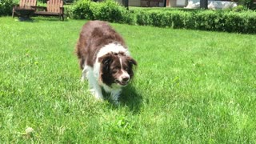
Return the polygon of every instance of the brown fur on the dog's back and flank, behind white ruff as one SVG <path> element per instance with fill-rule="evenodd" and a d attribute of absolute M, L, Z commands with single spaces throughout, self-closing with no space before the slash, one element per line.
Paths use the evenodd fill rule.
<path fill-rule="evenodd" d="M 111 42 L 118 42 L 126 47 L 122 37 L 107 22 L 86 22 L 86 24 L 82 26 L 75 50 L 80 68 L 83 69 L 84 62 L 86 62 L 88 66 L 93 67 L 98 51 L 102 46 Z"/>

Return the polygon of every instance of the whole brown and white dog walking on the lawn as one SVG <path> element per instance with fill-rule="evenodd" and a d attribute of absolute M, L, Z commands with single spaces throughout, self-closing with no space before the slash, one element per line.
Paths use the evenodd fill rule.
<path fill-rule="evenodd" d="M 90 21 L 82 26 L 76 46 L 82 69 L 82 81 L 87 78 L 90 92 L 102 99 L 102 89 L 118 103 L 122 87 L 133 78 L 133 66 L 126 44 L 107 22 Z"/>

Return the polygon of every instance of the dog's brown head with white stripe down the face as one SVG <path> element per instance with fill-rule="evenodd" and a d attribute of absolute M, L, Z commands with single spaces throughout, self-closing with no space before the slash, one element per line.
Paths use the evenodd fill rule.
<path fill-rule="evenodd" d="M 109 53 L 98 58 L 101 63 L 100 75 L 102 82 L 108 86 L 117 84 L 126 86 L 134 76 L 133 66 L 137 62 L 123 53 Z"/>

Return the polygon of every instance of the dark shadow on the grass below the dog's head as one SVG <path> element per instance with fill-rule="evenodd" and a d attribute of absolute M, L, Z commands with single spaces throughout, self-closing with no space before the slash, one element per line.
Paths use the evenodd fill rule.
<path fill-rule="evenodd" d="M 111 102 L 109 98 L 108 100 Z M 134 86 L 128 85 L 122 89 L 119 102 L 120 106 L 128 106 L 131 112 L 138 114 L 142 106 L 142 95 L 137 93 Z"/>

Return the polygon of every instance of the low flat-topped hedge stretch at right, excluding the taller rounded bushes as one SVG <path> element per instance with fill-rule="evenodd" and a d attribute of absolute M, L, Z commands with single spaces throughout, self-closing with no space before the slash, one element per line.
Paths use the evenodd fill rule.
<path fill-rule="evenodd" d="M 135 10 L 138 25 L 256 33 L 256 12 L 243 10 Z"/>

